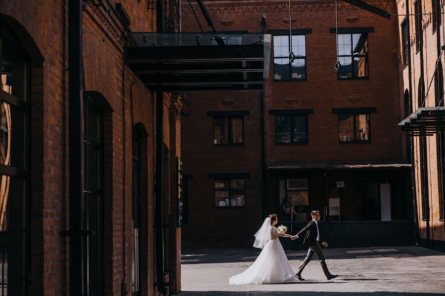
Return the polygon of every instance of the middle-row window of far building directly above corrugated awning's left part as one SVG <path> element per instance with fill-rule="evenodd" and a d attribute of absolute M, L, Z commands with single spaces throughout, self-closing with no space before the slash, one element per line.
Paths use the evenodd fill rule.
<path fill-rule="evenodd" d="M 308 143 L 308 115 L 275 115 L 275 143 Z"/>

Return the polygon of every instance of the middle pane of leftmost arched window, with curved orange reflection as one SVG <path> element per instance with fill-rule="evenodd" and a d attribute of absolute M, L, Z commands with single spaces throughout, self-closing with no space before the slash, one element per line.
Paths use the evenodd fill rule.
<path fill-rule="evenodd" d="M 26 114 L 5 102 L 0 102 L 0 164 L 25 166 Z"/>

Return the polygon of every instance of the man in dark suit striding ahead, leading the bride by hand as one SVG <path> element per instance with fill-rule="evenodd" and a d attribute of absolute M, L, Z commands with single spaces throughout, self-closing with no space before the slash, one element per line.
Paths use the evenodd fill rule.
<path fill-rule="evenodd" d="M 301 277 L 301 273 L 305 266 L 311 261 L 313 254 L 317 256 L 318 260 L 320 260 L 321 267 L 323 268 L 323 272 L 326 275 L 326 278 L 328 280 L 336 278 L 338 275 L 331 274 L 329 270 L 327 269 L 326 262 L 324 260 L 323 251 L 321 250 L 320 246 L 320 233 L 318 232 L 318 221 L 320 221 L 320 212 L 319 211 L 312 211 L 312 221 L 309 222 L 309 224 L 300 230 L 296 235 L 291 236 L 292 240 L 295 240 L 300 237 L 303 233 L 306 232 L 305 238 L 303 240 L 303 245 L 309 247 L 308 255 L 306 255 L 306 258 L 301 263 L 300 267 L 298 268 L 297 274 L 295 274 L 295 277 L 298 278 L 300 281 L 304 281 L 305 279 Z M 327 247 L 327 243 L 322 242 L 321 245 L 324 247 Z"/>

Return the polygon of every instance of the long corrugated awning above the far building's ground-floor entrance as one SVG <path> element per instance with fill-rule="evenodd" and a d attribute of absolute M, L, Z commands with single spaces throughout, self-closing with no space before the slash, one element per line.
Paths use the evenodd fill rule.
<path fill-rule="evenodd" d="M 367 169 L 367 168 L 403 168 L 411 164 L 400 159 L 385 160 L 320 160 L 320 161 L 272 161 L 267 162 L 269 170 L 308 170 L 308 169 Z"/>

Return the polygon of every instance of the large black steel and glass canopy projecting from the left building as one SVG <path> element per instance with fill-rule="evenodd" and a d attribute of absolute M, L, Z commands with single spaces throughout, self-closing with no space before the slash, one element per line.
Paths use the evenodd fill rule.
<path fill-rule="evenodd" d="M 126 63 L 153 91 L 261 91 L 270 35 L 132 33 Z"/>

